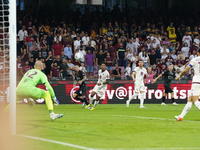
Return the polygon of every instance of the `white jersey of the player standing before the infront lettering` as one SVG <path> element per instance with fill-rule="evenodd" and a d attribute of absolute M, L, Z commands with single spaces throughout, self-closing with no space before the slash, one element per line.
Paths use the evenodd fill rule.
<path fill-rule="evenodd" d="M 144 76 L 147 74 L 147 70 L 143 67 L 142 69 L 140 67 L 135 68 L 135 83 L 144 83 Z"/>

